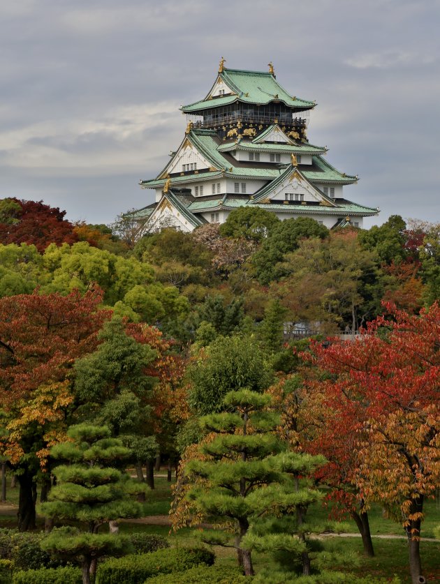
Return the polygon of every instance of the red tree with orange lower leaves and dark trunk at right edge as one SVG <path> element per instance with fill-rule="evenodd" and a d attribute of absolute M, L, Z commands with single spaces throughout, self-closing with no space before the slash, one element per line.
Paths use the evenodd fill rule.
<path fill-rule="evenodd" d="M 314 350 L 318 365 L 335 376 L 325 383 L 328 399 L 361 412 L 353 482 L 367 504 L 379 501 L 403 518 L 416 584 L 423 502 L 440 481 L 440 308 L 433 304 L 420 315 L 386 309 L 390 317 L 369 323 L 358 342 Z"/>

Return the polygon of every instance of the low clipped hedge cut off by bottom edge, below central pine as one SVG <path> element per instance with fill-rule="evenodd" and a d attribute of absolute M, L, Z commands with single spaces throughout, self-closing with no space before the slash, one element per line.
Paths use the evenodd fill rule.
<path fill-rule="evenodd" d="M 253 579 L 243 576 L 238 567 L 195 566 L 184 572 L 148 578 L 145 584 L 247 584 Z"/>

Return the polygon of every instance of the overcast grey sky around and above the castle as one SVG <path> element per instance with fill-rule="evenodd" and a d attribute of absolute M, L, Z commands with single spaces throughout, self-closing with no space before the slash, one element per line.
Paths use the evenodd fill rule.
<path fill-rule="evenodd" d="M 308 137 L 379 218 L 440 220 L 440 0 L 3 0 L 0 197 L 110 223 L 153 200 L 219 59 L 318 103 Z"/>

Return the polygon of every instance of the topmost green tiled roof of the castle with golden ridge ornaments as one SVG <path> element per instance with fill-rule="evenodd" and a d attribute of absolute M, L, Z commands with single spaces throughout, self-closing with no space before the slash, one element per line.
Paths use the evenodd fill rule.
<path fill-rule="evenodd" d="M 214 93 L 214 89 L 219 82 L 223 82 L 230 89 L 230 93 L 213 96 L 212 93 Z M 189 105 L 183 105 L 181 109 L 185 114 L 193 114 L 212 107 L 229 105 L 235 101 L 256 105 L 284 103 L 297 111 L 310 110 L 316 105 L 314 101 L 307 101 L 289 95 L 277 82 L 274 73 L 271 71 L 244 71 L 220 66 L 217 80 L 205 99 Z"/>

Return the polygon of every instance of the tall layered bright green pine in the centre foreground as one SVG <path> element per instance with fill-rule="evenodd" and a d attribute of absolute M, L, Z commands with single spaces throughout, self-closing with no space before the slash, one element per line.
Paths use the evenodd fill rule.
<path fill-rule="evenodd" d="M 254 568 L 251 552 L 242 547 L 242 539 L 251 519 L 262 511 L 263 502 L 258 497 L 261 485 L 281 481 L 281 474 L 269 459 L 283 449 L 270 432 L 277 417 L 263 412 L 269 403 L 270 396 L 255 391 L 230 391 L 223 401 L 228 413 L 211 414 L 200 420 L 207 432 L 214 433 L 212 440 L 199 447 L 207 460 L 193 460 L 184 471 L 190 481 L 196 477 L 205 481 L 187 495 L 196 508 L 214 523 L 224 522 L 225 518 L 233 522 L 233 544 L 222 532 L 204 534 L 204 541 L 235 548 L 247 576 L 254 574 Z"/>

